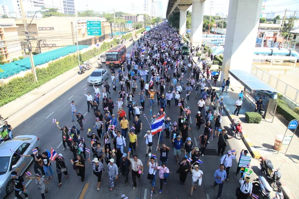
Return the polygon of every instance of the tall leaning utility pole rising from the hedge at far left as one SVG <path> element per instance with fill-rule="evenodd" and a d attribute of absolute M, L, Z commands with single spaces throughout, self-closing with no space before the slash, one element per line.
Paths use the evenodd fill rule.
<path fill-rule="evenodd" d="M 37 76 L 36 76 L 36 72 L 35 72 L 35 66 L 34 66 L 33 55 L 32 55 L 32 46 L 31 46 L 31 41 L 30 41 L 31 39 L 29 36 L 28 25 L 27 25 L 27 21 L 26 21 L 25 12 L 23 9 L 22 0 L 19 0 L 19 3 L 20 3 L 21 13 L 22 13 L 22 20 L 23 20 L 23 24 L 24 24 L 24 31 L 25 31 L 25 36 L 26 36 L 26 41 L 27 41 L 27 46 L 28 46 L 29 57 L 30 57 L 31 71 L 32 71 L 32 74 L 34 77 L 34 83 L 37 83 Z"/>

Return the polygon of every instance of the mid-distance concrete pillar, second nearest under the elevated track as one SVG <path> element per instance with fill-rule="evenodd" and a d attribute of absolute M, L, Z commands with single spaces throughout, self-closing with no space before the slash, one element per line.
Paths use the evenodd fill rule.
<path fill-rule="evenodd" d="M 190 42 L 193 46 L 201 46 L 204 1 L 205 0 L 192 0 Z"/>

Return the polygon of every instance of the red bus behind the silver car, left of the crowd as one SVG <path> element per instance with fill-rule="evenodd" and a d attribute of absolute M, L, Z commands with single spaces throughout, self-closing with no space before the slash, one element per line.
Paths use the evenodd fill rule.
<path fill-rule="evenodd" d="M 106 66 L 121 66 L 126 60 L 126 46 L 119 45 L 106 52 Z"/>

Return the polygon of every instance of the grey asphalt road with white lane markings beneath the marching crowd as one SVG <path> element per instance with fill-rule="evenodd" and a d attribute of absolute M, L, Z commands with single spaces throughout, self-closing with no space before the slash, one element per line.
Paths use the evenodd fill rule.
<path fill-rule="evenodd" d="M 132 49 L 132 46 L 128 48 L 128 51 Z M 188 76 L 188 75 L 186 75 Z M 111 74 L 110 74 L 111 77 Z M 186 80 L 184 80 L 186 82 Z M 50 149 L 53 147 L 57 153 L 62 153 L 66 159 L 66 163 L 69 169 L 69 178 L 62 179 L 63 185 L 61 187 L 57 187 L 58 179 L 57 174 L 54 172 L 54 178 L 49 180 L 50 185 L 47 186 L 49 189 L 49 193 L 46 195 L 48 199 L 57 199 L 62 197 L 68 198 L 80 198 L 80 199 L 89 199 L 95 196 L 101 196 L 101 198 L 120 198 L 121 194 L 126 194 L 130 199 L 149 199 L 150 198 L 150 189 L 151 185 L 149 184 L 149 180 L 147 179 L 148 167 L 146 166 L 146 156 L 145 156 L 145 139 L 138 138 L 138 155 L 139 158 L 145 163 L 145 175 L 141 180 L 137 180 L 138 187 L 136 190 L 132 190 L 133 182 L 130 174 L 129 177 L 129 185 L 126 186 L 124 182 L 124 178 L 121 176 L 120 181 L 115 183 L 115 189 L 112 192 L 109 192 L 109 181 L 107 172 L 102 175 L 102 183 L 100 186 L 100 191 L 96 191 L 97 180 L 91 171 L 91 166 L 86 164 L 86 180 L 84 184 L 80 183 L 80 178 L 76 176 L 76 173 L 72 170 L 72 166 L 70 164 L 70 159 L 72 158 L 72 153 L 69 150 L 62 150 L 63 146 L 61 145 L 61 131 L 59 131 L 55 124 L 52 123 L 52 119 L 55 118 L 59 121 L 60 126 L 68 126 L 77 125 L 76 122 L 71 122 L 71 112 L 69 102 L 74 100 L 77 104 L 77 111 L 81 111 L 86 119 L 87 123 L 84 124 L 84 132 L 81 132 L 81 136 L 84 135 L 88 128 L 91 128 L 94 125 L 95 115 L 92 112 L 87 112 L 87 104 L 86 97 L 83 95 L 84 88 L 87 87 L 87 91 L 94 93 L 93 88 L 91 86 L 86 85 L 87 78 L 82 81 L 76 82 L 76 78 L 72 79 L 71 82 L 75 84 L 71 86 L 71 84 L 66 84 L 66 86 L 58 87 L 53 91 L 51 96 L 45 97 L 37 101 L 34 106 L 31 106 L 24 111 L 22 114 L 19 114 L 18 117 L 14 117 L 10 124 L 13 126 L 14 123 L 19 123 L 19 125 L 14 127 L 14 136 L 21 134 L 32 134 L 36 135 L 40 138 L 41 142 L 41 150 Z M 111 83 L 111 79 L 109 78 L 108 83 Z M 140 88 L 137 89 L 140 91 Z M 112 94 L 110 96 L 113 101 L 116 102 L 118 95 Z M 136 100 L 138 102 L 138 100 Z M 194 117 L 197 112 L 196 108 L 197 100 L 194 98 L 194 93 L 191 94 L 190 101 L 187 106 L 190 106 L 192 111 L 192 120 L 193 124 L 191 125 L 191 131 L 189 131 L 189 136 L 192 137 L 193 144 L 195 143 L 194 138 L 197 139 L 200 134 L 203 133 L 203 127 L 200 131 L 194 130 L 195 123 Z M 171 101 L 172 108 L 166 108 L 167 116 L 170 116 L 172 121 L 177 121 L 177 117 L 179 114 L 179 108 L 174 107 L 174 101 Z M 40 110 L 39 107 L 42 107 Z M 116 108 L 115 108 L 116 109 Z M 125 108 L 127 112 L 127 108 Z M 29 118 L 26 117 L 26 112 L 35 112 Z M 115 110 L 114 112 L 116 112 Z M 153 114 L 158 112 L 157 106 L 154 107 Z M 146 101 L 146 109 L 144 111 L 145 114 L 149 116 L 149 101 Z M 149 129 L 149 124 L 147 123 L 144 117 L 141 117 L 143 122 L 143 134 L 146 130 Z M 223 125 L 227 126 L 229 124 L 229 120 L 227 117 L 223 119 Z M 132 125 L 132 120 L 130 121 L 130 126 Z M 165 135 L 164 135 L 165 136 Z M 85 136 L 86 137 L 86 136 Z M 164 138 L 165 140 L 165 138 Z M 127 142 L 129 140 L 127 139 Z M 87 142 L 88 143 L 88 142 Z M 157 143 L 157 136 L 153 138 L 153 143 Z M 163 199 L 182 199 L 182 198 L 207 198 L 213 199 L 217 196 L 217 191 L 213 190 L 213 174 L 214 171 L 218 168 L 220 164 L 220 156 L 204 156 L 201 158 L 203 164 L 201 165 L 201 170 L 204 172 L 203 183 L 202 186 L 193 193 L 193 197 L 190 197 L 191 190 L 191 175 L 188 174 L 187 181 L 185 185 L 179 185 L 179 177 L 175 173 L 178 168 L 177 163 L 172 158 L 172 147 L 170 139 L 164 141 L 164 143 L 171 148 L 169 152 L 169 164 L 168 168 L 170 170 L 170 177 L 168 179 L 168 183 L 163 186 L 163 193 L 158 194 L 159 190 L 159 181 L 157 179 L 155 190 L 157 191 L 154 194 L 153 198 L 163 198 Z M 88 145 L 88 144 L 87 144 Z M 128 145 L 128 144 L 127 144 Z M 129 147 L 125 148 L 127 151 Z M 208 148 L 217 150 L 217 139 L 214 139 L 208 145 Z M 245 148 L 242 141 L 231 139 L 229 140 L 229 146 L 227 150 L 234 148 L 236 151 L 241 151 L 242 148 Z M 152 153 L 156 153 L 157 157 L 159 157 L 159 153 L 155 152 L 155 147 Z M 181 158 L 183 156 L 181 155 Z M 255 164 L 255 162 L 252 162 Z M 252 164 L 252 165 L 253 165 Z M 104 162 L 104 166 L 107 168 L 106 163 Z M 56 171 L 55 164 L 53 165 L 54 171 Z M 233 163 L 233 167 L 231 168 L 231 177 L 230 181 L 226 182 L 224 185 L 224 190 L 222 193 L 222 199 L 232 199 L 235 198 L 235 189 L 239 185 L 237 178 L 234 175 L 234 171 L 236 169 L 236 162 Z M 33 165 L 28 169 L 31 173 L 33 172 Z M 106 170 L 107 171 L 107 170 Z M 36 186 L 33 183 L 30 183 L 27 187 L 30 198 L 39 198 L 39 192 L 37 191 Z M 13 194 L 7 197 L 8 199 L 14 198 Z"/>

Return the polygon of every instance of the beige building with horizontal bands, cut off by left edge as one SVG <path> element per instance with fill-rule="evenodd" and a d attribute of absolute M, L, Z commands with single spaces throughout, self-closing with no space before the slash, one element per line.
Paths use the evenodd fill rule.
<path fill-rule="evenodd" d="M 0 56 L 3 61 L 22 56 L 17 28 L 14 19 L 0 19 Z"/>

